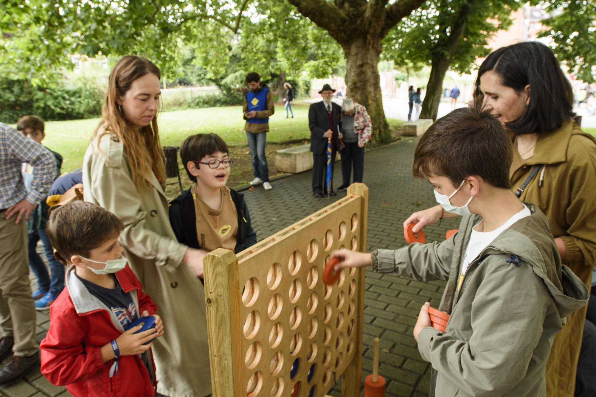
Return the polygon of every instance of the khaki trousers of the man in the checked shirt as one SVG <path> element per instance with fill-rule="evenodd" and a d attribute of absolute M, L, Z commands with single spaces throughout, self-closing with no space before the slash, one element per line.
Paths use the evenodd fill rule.
<path fill-rule="evenodd" d="M 27 227 L 23 219 L 6 219 L 0 210 L 0 333 L 13 336 L 13 353 L 30 356 L 38 351 L 35 341 L 35 303 L 29 281 Z"/>

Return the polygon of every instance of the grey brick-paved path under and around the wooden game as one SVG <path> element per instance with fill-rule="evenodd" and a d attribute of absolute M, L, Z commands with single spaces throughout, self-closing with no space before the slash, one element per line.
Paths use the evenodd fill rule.
<path fill-rule="evenodd" d="M 368 208 L 368 247 L 399 248 L 405 245 L 403 221 L 414 211 L 434 204 L 434 196 L 426 181 L 411 176 L 416 138 L 387 145 L 365 155 L 364 183 L 370 189 Z M 270 159 L 272 161 L 273 159 Z M 336 163 L 334 185 L 342 184 L 340 163 Z M 330 201 L 315 198 L 311 192 L 311 172 L 292 175 L 272 182 L 273 190 L 257 187 L 244 191 L 253 227 L 262 240 L 310 215 Z M 340 193 L 336 199 L 343 196 Z M 333 197 L 332 197 L 333 199 Z M 451 220 L 424 229 L 427 241 L 443 240 L 445 231 L 458 227 Z M 418 283 L 397 275 L 380 275 L 367 271 L 364 309 L 364 361 L 362 379 L 371 373 L 375 337 L 381 340 L 380 374 L 387 380 L 386 396 L 426 396 L 429 390 L 429 365 L 424 362 L 412 336 L 420 306 L 429 301 L 438 305 L 443 283 Z M 38 342 L 49 326 L 48 312 L 38 313 Z M 363 386 L 364 388 L 364 386 Z M 55 387 L 39 370 L 9 387 L 0 387 L 0 396 L 68 395 L 63 387 Z M 340 381 L 331 392 L 340 396 Z"/>

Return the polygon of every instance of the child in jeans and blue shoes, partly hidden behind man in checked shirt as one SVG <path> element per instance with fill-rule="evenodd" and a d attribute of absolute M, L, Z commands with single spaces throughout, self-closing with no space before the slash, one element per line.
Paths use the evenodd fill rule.
<path fill-rule="evenodd" d="M 41 142 L 45 138 L 44 120 L 38 116 L 23 116 L 18 119 L 17 130 L 33 141 Z M 60 168 L 62 166 L 62 156 L 52 151 L 56 159 L 56 175 L 60 175 Z M 33 178 L 33 167 L 27 163 L 23 163 L 23 179 L 25 187 L 29 191 L 31 181 Z M 58 294 L 64 288 L 64 265 L 54 258 L 54 249 L 49 243 L 48 236 L 45 234 L 45 223 L 48 221 L 48 205 L 45 200 L 39 203 L 38 207 L 32 211 L 29 221 L 27 222 L 27 233 L 29 234 L 29 242 L 27 250 L 29 252 L 29 267 L 35 274 L 38 283 L 38 289 L 33 293 L 35 299 L 35 308 L 37 310 L 46 310 L 49 305 L 54 302 Z M 44 253 L 48 259 L 51 276 L 48 274 L 48 269 L 45 267 L 44 260 L 41 259 L 37 253 L 36 247 L 38 241 L 41 240 L 44 244 Z"/>

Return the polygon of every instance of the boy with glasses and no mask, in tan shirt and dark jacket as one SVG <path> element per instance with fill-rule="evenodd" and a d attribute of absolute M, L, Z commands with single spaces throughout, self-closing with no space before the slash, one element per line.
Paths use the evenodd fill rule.
<path fill-rule="evenodd" d="M 226 248 L 236 253 L 257 242 L 242 194 L 226 187 L 228 146 L 216 134 L 188 137 L 180 147 L 188 178 L 196 182 L 172 201 L 170 224 L 178 241 L 207 253 Z"/>

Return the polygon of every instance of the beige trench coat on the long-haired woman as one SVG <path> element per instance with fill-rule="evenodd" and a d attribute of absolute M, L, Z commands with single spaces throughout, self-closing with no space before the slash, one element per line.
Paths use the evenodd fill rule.
<path fill-rule="evenodd" d="M 85 201 L 113 212 L 124 223 L 120 244 L 129 265 L 157 304 L 164 335 L 153 343 L 157 391 L 166 396 L 211 393 L 203 284 L 182 263 L 187 246 L 170 227 L 167 200 L 151 173 L 151 188 L 132 182 L 123 144 L 114 134 L 89 144 L 83 160 Z"/>

